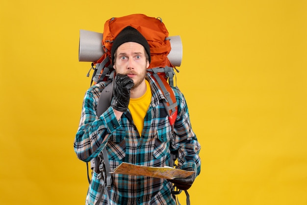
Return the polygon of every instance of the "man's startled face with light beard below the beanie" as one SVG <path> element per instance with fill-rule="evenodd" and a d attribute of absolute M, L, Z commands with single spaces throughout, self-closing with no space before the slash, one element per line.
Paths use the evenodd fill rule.
<path fill-rule="evenodd" d="M 116 73 L 128 75 L 134 82 L 133 88 L 145 82 L 149 62 L 141 44 L 127 42 L 120 45 L 114 54 L 114 58 L 113 67 Z"/>

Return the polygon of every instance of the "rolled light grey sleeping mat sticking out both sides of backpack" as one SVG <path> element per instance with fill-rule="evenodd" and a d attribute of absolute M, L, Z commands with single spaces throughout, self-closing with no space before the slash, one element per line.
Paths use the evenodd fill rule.
<path fill-rule="evenodd" d="M 79 61 L 94 62 L 104 53 L 102 48 L 102 33 L 80 30 Z M 171 51 L 167 55 L 172 65 L 180 66 L 182 60 L 182 42 L 180 36 L 169 36 Z"/>

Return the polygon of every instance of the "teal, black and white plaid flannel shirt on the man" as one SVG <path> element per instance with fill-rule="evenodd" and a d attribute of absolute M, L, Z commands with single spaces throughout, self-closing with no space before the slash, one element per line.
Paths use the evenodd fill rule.
<path fill-rule="evenodd" d="M 107 82 L 97 83 L 87 90 L 74 143 L 77 157 L 88 162 L 106 146 L 110 169 L 113 170 L 122 162 L 154 167 L 170 166 L 170 153 L 177 152 L 178 167 L 192 167 L 196 176 L 199 175 L 201 146 L 191 128 L 184 96 L 179 89 L 173 87 L 178 103 L 178 116 L 172 131 L 162 103 L 164 96 L 150 74 L 147 74 L 147 79 L 151 84 L 153 97 L 144 119 L 142 136 L 133 124 L 129 111 L 123 114 L 120 121 L 117 121 L 112 107 L 100 117 L 96 116 L 99 96 Z M 94 172 L 86 205 L 96 204 L 102 186 L 103 179 L 99 179 Z M 112 174 L 110 204 L 176 205 L 171 189 L 172 183 L 165 179 Z M 106 202 L 106 192 L 103 192 L 100 205 Z"/>

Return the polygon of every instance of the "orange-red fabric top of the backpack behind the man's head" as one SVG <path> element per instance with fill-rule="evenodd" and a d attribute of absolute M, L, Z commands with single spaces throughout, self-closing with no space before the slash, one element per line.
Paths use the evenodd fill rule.
<path fill-rule="evenodd" d="M 113 41 L 120 31 L 127 26 L 137 29 L 148 41 L 152 58 L 149 68 L 174 67 L 167 58 L 171 51 L 171 43 L 166 40 L 169 37 L 168 30 L 160 19 L 148 17 L 144 14 L 111 18 L 104 23 L 102 46 L 105 54 L 96 63 L 101 63 L 107 56 L 111 59 Z"/>

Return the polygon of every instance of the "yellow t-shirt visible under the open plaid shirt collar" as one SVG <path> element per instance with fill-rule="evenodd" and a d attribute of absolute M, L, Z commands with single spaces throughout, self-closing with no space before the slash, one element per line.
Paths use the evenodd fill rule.
<path fill-rule="evenodd" d="M 142 130 L 144 127 L 144 118 L 147 113 L 148 107 L 152 101 L 152 91 L 150 88 L 150 84 L 147 80 L 146 82 L 146 93 L 140 97 L 135 99 L 130 99 L 128 108 L 132 116 L 132 120 L 140 133 L 142 135 Z"/>

